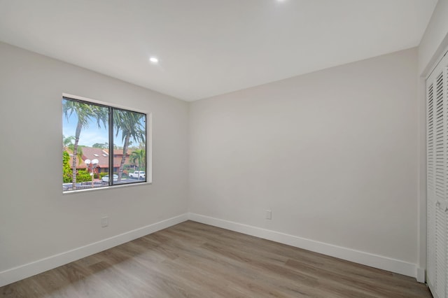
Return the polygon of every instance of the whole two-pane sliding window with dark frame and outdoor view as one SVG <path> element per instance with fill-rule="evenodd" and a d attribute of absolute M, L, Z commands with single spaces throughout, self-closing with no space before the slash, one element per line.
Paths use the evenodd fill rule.
<path fill-rule="evenodd" d="M 146 113 L 62 98 L 62 190 L 142 183 Z"/>

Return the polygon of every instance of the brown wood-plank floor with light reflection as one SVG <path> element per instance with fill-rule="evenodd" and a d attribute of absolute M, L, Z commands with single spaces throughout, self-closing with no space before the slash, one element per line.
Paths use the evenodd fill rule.
<path fill-rule="evenodd" d="M 0 297 L 431 297 L 414 278 L 187 221 Z"/>

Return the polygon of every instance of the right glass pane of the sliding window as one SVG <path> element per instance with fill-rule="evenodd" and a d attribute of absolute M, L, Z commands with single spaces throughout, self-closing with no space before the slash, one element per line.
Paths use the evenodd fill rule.
<path fill-rule="evenodd" d="M 113 184 L 146 182 L 146 115 L 113 109 Z"/>

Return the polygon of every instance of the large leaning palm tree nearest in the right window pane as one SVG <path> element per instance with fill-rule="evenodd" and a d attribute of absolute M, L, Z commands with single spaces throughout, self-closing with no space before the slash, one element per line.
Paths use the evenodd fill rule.
<path fill-rule="evenodd" d="M 118 169 L 118 181 L 121 181 L 123 176 L 123 167 L 125 166 L 130 139 L 145 142 L 146 127 L 144 120 L 145 115 L 141 113 L 118 109 L 113 110 L 113 126 L 116 128 L 116 137 L 121 132 L 121 141 L 123 141 L 123 157 L 121 158 L 120 168 Z"/>

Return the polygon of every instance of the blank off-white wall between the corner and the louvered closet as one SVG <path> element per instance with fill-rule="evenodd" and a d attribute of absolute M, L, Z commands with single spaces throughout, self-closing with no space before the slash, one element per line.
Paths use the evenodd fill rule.
<path fill-rule="evenodd" d="M 416 77 L 414 48 L 191 103 L 190 212 L 416 269 Z"/>

